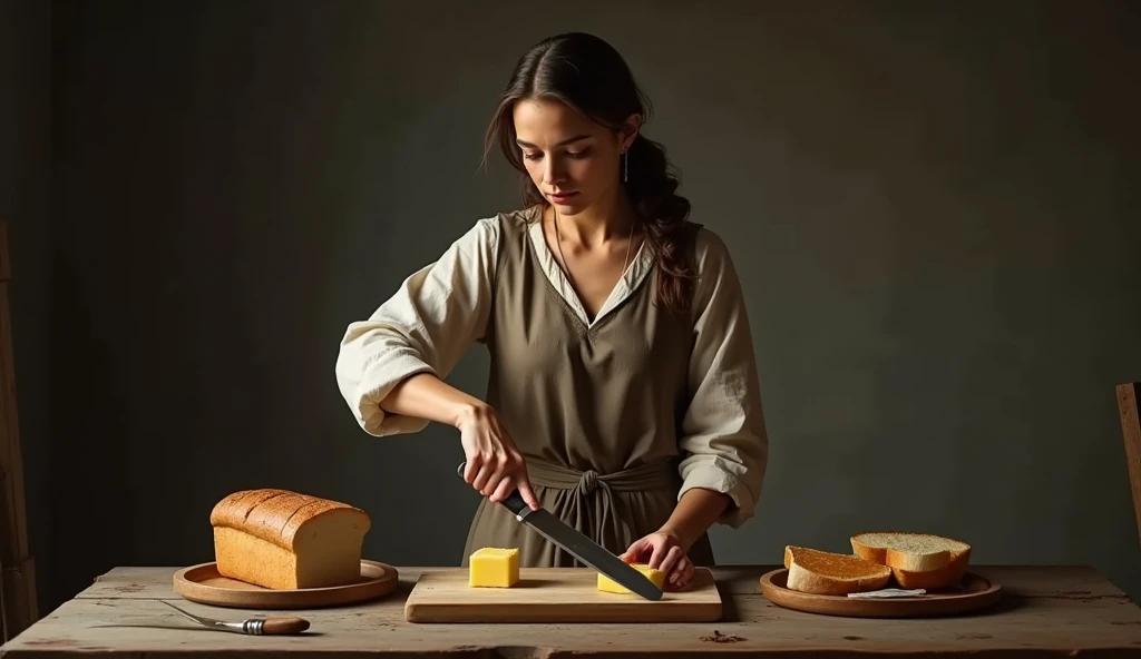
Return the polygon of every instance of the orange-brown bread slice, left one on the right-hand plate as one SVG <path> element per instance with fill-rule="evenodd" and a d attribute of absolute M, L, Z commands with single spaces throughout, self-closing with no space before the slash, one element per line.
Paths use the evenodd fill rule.
<path fill-rule="evenodd" d="M 816 595 L 848 595 L 879 591 L 891 579 L 891 569 L 858 556 L 786 546 L 785 568 L 791 591 Z"/>

